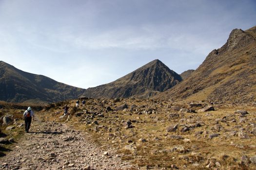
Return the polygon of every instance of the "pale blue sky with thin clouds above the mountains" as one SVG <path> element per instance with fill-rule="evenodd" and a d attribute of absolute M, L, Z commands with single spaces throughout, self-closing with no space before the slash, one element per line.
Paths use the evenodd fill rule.
<path fill-rule="evenodd" d="M 88 88 L 155 59 L 196 69 L 255 25 L 256 0 L 0 0 L 0 61 Z"/>

